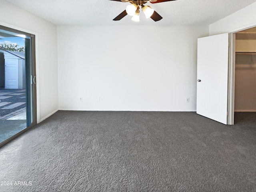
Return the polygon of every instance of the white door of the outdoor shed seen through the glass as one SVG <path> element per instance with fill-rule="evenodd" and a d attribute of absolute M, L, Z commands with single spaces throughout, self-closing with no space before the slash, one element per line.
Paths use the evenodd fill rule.
<path fill-rule="evenodd" d="M 19 61 L 18 59 L 5 60 L 5 88 L 19 88 Z"/>

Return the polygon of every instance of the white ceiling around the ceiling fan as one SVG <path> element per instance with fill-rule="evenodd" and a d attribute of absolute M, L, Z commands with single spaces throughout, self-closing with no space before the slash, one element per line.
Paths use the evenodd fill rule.
<path fill-rule="evenodd" d="M 131 16 L 112 19 L 129 3 L 111 0 L 7 0 L 56 25 L 208 25 L 228 16 L 256 0 L 176 0 L 147 3 L 163 19 L 154 22 L 140 14 L 140 22 Z"/>

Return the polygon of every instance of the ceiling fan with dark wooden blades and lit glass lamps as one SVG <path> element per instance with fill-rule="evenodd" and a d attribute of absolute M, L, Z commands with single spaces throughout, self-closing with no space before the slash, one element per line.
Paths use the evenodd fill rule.
<path fill-rule="evenodd" d="M 152 18 L 154 21 L 159 21 L 162 19 L 162 16 L 160 16 L 154 9 L 152 9 L 150 6 L 144 6 L 145 3 L 161 3 L 166 1 L 175 1 L 175 0 L 111 0 L 111 1 L 120 1 L 120 2 L 129 2 L 131 3 L 126 7 L 126 10 L 124 10 L 122 13 L 120 13 L 116 18 L 114 18 L 114 21 L 119 21 L 120 19 L 124 18 L 127 14 L 132 16 L 132 20 L 139 22 L 140 21 L 140 8 L 142 9 L 142 12 L 144 12 L 146 18 Z"/>

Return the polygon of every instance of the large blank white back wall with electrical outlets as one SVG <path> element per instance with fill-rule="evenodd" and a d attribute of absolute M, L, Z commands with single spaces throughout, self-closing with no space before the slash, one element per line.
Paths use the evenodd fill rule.
<path fill-rule="evenodd" d="M 194 111 L 204 36 L 208 26 L 58 26 L 59 108 Z"/>

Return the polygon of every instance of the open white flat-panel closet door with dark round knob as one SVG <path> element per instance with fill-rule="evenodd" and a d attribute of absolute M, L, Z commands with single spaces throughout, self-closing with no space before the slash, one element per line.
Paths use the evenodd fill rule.
<path fill-rule="evenodd" d="M 229 34 L 198 39 L 196 113 L 227 124 Z"/>

